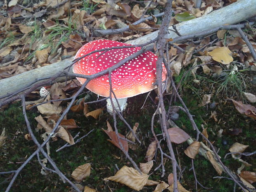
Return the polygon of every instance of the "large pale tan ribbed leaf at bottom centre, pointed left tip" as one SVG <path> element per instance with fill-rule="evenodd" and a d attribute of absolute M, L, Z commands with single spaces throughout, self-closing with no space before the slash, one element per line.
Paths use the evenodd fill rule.
<path fill-rule="evenodd" d="M 123 166 L 114 176 L 104 178 L 104 180 L 119 182 L 139 191 L 146 185 L 148 178 L 147 174 L 140 174 L 132 167 Z"/>

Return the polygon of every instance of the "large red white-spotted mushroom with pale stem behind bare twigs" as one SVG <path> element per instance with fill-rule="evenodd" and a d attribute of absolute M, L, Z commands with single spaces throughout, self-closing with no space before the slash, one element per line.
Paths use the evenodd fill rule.
<path fill-rule="evenodd" d="M 121 47 L 130 44 L 120 43 L 113 40 L 94 40 L 81 47 L 76 53 L 75 59 L 82 57 L 92 51 L 110 47 Z M 114 66 L 122 59 L 138 52 L 141 47 L 130 47 L 112 49 L 106 52 L 95 52 L 73 65 L 73 72 L 83 75 L 93 75 L 111 66 Z M 126 62 L 118 69 L 111 72 L 112 90 L 118 99 L 121 110 L 126 107 L 127 97 L 133 97 L 156 88 L 156 60 L 157 56 L 147 51 L 138 57 Z M 166 79 L 166 68 L 162 64 L 162 81 Z M 77 78 L 81 84 L 85 83 L 85 78 Z M 86 88 L 103 97 L 109 97 L 109 77 L 108 74 L 92 79 Z M 113 97 L 113 95 L 112 95 Z M 119 109 L 113 97 L 114 107 Z M 112 113 L 110 99 L 107 99 L 107 110 Z"/>

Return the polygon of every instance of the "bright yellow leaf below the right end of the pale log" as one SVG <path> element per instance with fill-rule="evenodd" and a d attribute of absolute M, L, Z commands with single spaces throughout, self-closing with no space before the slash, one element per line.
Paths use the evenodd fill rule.
<path fill-rule="evenodd" d="M 220 62 L 222 64 L 230 64 L 233 61 L 233 57 L 231 56 L 231 51 L 228 47 L 219 47 L 209 52 L 209 55 L 213 58 L 213 60 Z"/>

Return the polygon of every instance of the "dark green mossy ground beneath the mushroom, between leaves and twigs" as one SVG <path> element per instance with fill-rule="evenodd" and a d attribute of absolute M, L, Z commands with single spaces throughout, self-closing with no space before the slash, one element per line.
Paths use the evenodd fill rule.
<path fill-rule="evenodd" d="M 188 83 L 188 81 L 186 83 Z M 197 90 L 198 93 L 202 95 L 203 90 L 200 88 L 197 88 Z M 199 104 L 201 101 L 198 99 L 197 94 L 193 94 L 193 92 L 194 91 L 192 89 L 186 87 L 186 84 L 183 84 L 182 96 L 185 104 L 187 104 L 187 107 L 190 109 L 191 114 L 194 115 L 194 120 L 197 126 L 200 130 L 201 124 L 204 124 L 204 128 L 208 128 L 209 140 L 213 142 L 213 145 L 217 150 L 219 149 L 219 155 L 221 156 L 224 164 L 235 172 L 237 168 L 241 166 L 241 163 L 232 159 L 230 156 L 228 156 L 227 159 L 224 159 L 224 156 L 228 153 L 230 146 L 235 142 L 239 142 L 243 145 L 249 145 L 247 152 L 253 152 L 256 150 L 254 145 L 256 138 L 254 121 L 238 114 L 232 103 L 216 97 L 215 100 L 218 102 L 218 105 L 214 110 L 216 110 L 218 114 L 217 118 L 221 118 L 221 121 L 216 123 L 213 119 L 209 119 L 212 109 L 209 109 L 206 106 L 200 107 Z M 155 93 L 152 92 L 153 98 L 155 96 L 154 94 Z M 146 94 L 128 99 L 128 109 L 124 112 L 124 117 L 131 126 L 133 126 L 135 122 L 140 123 L 138 136 L 142 141 L 142 145 L 140 145 L 135 151 L 131 149 L 129 150 L 130 156 L 137 164 L 145 162 L 147 146 L 150 143 L 150 138 L 152 138 L 150 130 L 151 117 L 156 107 L 149 99 L 147 99 L 145 106 L 140 109 L 145 98 Z M 177 104 L 179 103 L 177 102 Z M 98 108 L 102 106 L 101 104 L 95 104 L 91 107 Z M 180 111 L 179 114 L 180 118 L 175 123 L 177 123 L 180 128 L 183 128 L 183 130 L 185 130 L 189 135 L 195 137 L 195 131 L 192 130 L 192 126 L 186 114 L 182 111 Z M 33 128 L 36 127 L 34 117 L 37 115 L 38 113 L 36 110 L 28 111 L 28 118 Z M 50 143 L 51 157 L 56 162 L 60 170 L 72 180 L 71 173 L 77 166 L 90 163 L 92 165 L 90 177 L 86 178 L 81 183 L 82 185 L 96 188 L 98 191 L 109 191 L 109 187 L 116 192 L 132 191 L 125 185 L 112 181 L 106 182 L 103 180 L 104 178 L 116 173 L 116 166 L 119 168 L 124 165 L 132 166 L 122 152 L 107 141 L 109 138 L 102 131 L 102 128 L 107 129 L 107 120 L 113 125 L 113 119 L 109 116 L 107 111 L 104 111 L 104 114 L 100 116 L 99 120 L 86 118 L 83 114 L 72 112 L 69 112 L 68 118 L 75 119 L 78 122 L 78 125 L 81 126 L 81 128 L 71 130 L 72 135 L 76 135 L 76 133 L 80 131 L 80 136 L 82 136 L 93 128 L 95 130 L 85 137 L 83 141 L 74 146 L 66 147 L 59 152 L 55 152 L 55 150 L 64 145 L 65 142 L 58 139 L 58 141 Z M 157 124 L 157 117 L 155 122 L 155 131 L 156 133 L 160 133 L 161 128 Z M 1 130 L 2 128 L 6 128 L 8 137 L 6 144 L 2 147 L 0 152 L 2 157 L 0 160 L 1 171 L 15 170 L 36 150 L 36 146 L 33 141 L 27 141 L 24 139 L 24 135 L 27 133 L 27 130 L 19 102 L 10 105 L 8 109 L 0 112 L 0 124 Z M 126 135 L 128 130 L 125 123 L 118 120 L 117 127 L 121 134 Z M 237 136 L 223 134 L 223 137 L 219 138 L 217 137 L 217 132 L 220 128 L 224 129 L 224 133 L 228 133 L 230 128 L 242 128 L 242 133 Z M 216 135 L 214 135 L 214 133 Z M 38 140 L 42 142 L 43 140 L 40 138 L 40 133 L 35 132 L 35 134 Z M 227 142 L 226 144 L 224 143 L 225 145 L 223 145 L 223 140 Z M 168 153 L 166 144 L 162 142 L 161 145 Z M 194 175 L 192 170 L 190 170 L 191 159 L 183 153 L 187 146 L 187 143 L 180 145 L 173 144 L 178 163 L 182 169 L 185 169 L 180 182 L 187 190 L 194 191 Z M 43 159 L 43 156 L 40 157 Z M 253 156 L 243 157 L 242 159 L 252 164 L 251 167 L 246 167 L 244 170 L 256 171 L 256 162 L 254 161 Z M 160 157 L 157 156 L 152 170 L 154 170 L 160 162 Z M 50 165 L 48 166 L 50 167 Z M 213 179 L 214 176 L 218 176 L 218 173 L 216 173 L 211 163 L 204 159 L 204 157 L 197 155 L 194 160 L 194 167 L 198 181 L 205 187 L 212 187 L 211 189 L 206 190 L 198 186 L 201 192 L 228 192 L 233 188 L 233 183 L 230 180 Z M 71 190 L 71 187 L 62 183 L 56 174 L 49 173 L 47 175 L 41 175 L 40 169 L 41 167 L 38 164 L 37 159 L 33 158 L 33 160 L 21 172 L 11 191 L 25 192 L 29 189 L 42 192 L 68 192 Z M 164 180 L 167 182 L 167 176 L 172 172 L 171 161 L 169 159 L 166 159 L 165 161 L 165 169 L 166 175 L 164 178 L 161 178 L 161 169 L 158 169 L 157 171 L 153 171 L 153 174 L 150 175 L 150 179 L 156 181 Z M 5 189 L 7 187 L 10 176 L 10 174 L 1 175 L 0 188 Z M 228 175 L 223 173 L 221 176 Z M 216 186 L 218 187 L 216 188 Z M 149 192 L 153 190 L 154 187 L 144 187 L 142 191 Z"/>

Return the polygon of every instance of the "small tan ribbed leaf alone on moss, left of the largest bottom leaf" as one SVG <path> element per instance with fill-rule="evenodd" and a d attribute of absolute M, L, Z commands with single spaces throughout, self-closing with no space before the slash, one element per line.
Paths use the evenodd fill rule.
<path fill-rule="evenodd" d="M 77 182 L 81 182 L 84 178 L 89 177 L 91 173 L 91 164 L 83 164 L 78 166 L 71 174 L 71 177 Z"/>

